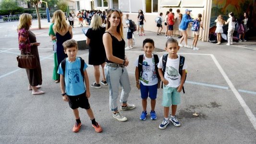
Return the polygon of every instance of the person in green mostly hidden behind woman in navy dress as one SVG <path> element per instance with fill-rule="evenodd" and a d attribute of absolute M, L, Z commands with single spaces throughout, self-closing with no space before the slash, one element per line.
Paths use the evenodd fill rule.
<path fill-rule="evenodd" d="M 57 44 L 56 44 L 56 35 L 53 31 L 53 25 L 55 22 L 55 17 L 53 15 L 52 21 L 49 27 L 49 36 L 51 37 L 52 40 L 52 45 L 53 45 L 53 52 L 54 52 L 54 68 L 53 68 L 53 74 L 52 74 L 52 79 L 55 81 L 55 83 L 60 82 L 60 74 L 58 74 L 58 61 L 57 61 Z"/>

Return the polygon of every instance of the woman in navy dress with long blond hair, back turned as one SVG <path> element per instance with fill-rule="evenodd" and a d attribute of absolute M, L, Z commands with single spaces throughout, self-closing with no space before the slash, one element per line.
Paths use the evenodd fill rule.
<path fill-rule="evenodd" d="M 67 58 L 67 54 L 64 53 L 64 48 L 62 46 L 63 42 L 71 39 L 73 36 L 72 27 L 67 24 L 65 14 L 61 10 L 57 10 L 53 13 L 55 17 L 55 23 L 53 25 L 53 31 L 57 38 L 57 61 L 58 67 L 62 60 Z"/>

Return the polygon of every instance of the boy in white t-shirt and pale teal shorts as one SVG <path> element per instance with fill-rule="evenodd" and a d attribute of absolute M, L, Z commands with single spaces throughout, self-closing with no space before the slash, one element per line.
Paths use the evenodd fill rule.
<path fill-rule="evenodd" d="M 178 41 L 174 38 L 169 38 L 166 42 L 165 50 L 168 52 L 168 57 L 166 60 L 165 73 L 163 75 L 163 57 L 160 58 L 158 63 L 158 73 L 164 84 L 163 86 L 163 100 L 162 106 L 164 106 L 164 120 L 159 125 L 159 129 L 165 129 L 169 124 L 169 109 L 171 106 L 171 118 L 170 121 L 174 126 L 180 126 L 180 122 L 176 118 L 177 105 L 181 103 L 180 92 L 183 89 L 183 84 L 185 81 L 187 64 L 184 61 L 182 76 L 179 73 L 180 66 L 180 55 L 177 55 L 180 49 Z"/>

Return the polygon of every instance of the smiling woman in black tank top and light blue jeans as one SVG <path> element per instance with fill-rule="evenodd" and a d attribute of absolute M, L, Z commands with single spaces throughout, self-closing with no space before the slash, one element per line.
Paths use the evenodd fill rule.
<path fill-rule="evenodd" d="M 107 56 L 105 74 L 107 83 L 110 85 L 110 110 L 113 111 L 113 118 L 120 121 L 126 121 L 127 118 L 118 112 L 117 98 L 119 96 L 119 85 L 122 87 L 120 98 L 122 105 L 120 109 L 134 109 L 135 105 L 127 104 L 131 85 L 126 70 L 129 61 L 124 55 L 125 42 L 123 40 L 122 27 L 122 16 L 120 11 L 110 10 L 107 16 L 106 32 L 103 35 L 103 44 Z"/>

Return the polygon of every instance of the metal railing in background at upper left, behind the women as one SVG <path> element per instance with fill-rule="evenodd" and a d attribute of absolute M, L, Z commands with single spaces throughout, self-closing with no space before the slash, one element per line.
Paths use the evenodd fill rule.
<path fill-rule="evenodd" d="M 54 12 L 49 12 L 50 18 L 52 18 Z M 65 16 L 67 17 L 67 12 L 64 12 Z M 30 14 L 33 20 L 37 19 L 37 13 Z M 40 13 L 41 19 L 47 19 L 46 13 Z M 19 21 L 20 14 L 16 15 L 0 15 L 0 22 L 12 22 L 12 21 Z"/>

